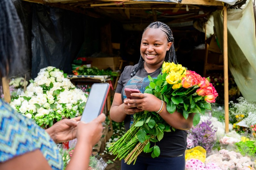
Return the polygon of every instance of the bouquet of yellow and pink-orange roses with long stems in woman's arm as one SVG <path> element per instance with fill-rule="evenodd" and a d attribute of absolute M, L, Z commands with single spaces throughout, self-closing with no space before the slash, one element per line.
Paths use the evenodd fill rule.
<path fill-rule="evenodd" d="M 172 114 L 176 110 L 185 119 L 190 113 L 196 113 L 193 125 L 200 121 L 200 114 L 211 109 L 212 102 L 218 96 L 209 78 L 202 78 L 194 71 L 187 70 L 180 64 L 164 62 L 162 73 L 156 79 L 148 76 L 150 83 L 144 93 L 154 94 L 166 102 L 167 111 Z M 160 148 L 150 142 L 158 142 L 164 137 L 164 132 L 175 131 L 156 112 L 139 112 L 133 115 L 134 123 L 117 142 L 112 143 L 109 151 L 117 155 L 116 159 L 124 159 L 129 165 L 144 151 L 152 152 L 152 158 L 160 155 Z"/>

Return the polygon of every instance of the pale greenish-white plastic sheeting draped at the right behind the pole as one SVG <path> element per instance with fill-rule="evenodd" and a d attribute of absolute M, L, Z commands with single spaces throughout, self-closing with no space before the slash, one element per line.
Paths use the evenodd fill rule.
<path fill-rule="evenodd" d="M 213 13 L 220 47 L 223 48 L 223 17 Z M 228 68 L 243 97 L 256 101 L 256 38 L 252 0 L 243 10 L 228 11 Z M 222 49 L 223 50 L 223 49 Z"/>

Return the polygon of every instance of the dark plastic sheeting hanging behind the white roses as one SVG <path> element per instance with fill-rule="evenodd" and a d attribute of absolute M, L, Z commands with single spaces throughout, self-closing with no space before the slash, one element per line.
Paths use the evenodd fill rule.
<path fill-rule="evenodd" d="M 83 15 L 34 4 L 32 16 L 32 71 L 53 66 L 71 73 L 71 63 L 84 41 Z"/>

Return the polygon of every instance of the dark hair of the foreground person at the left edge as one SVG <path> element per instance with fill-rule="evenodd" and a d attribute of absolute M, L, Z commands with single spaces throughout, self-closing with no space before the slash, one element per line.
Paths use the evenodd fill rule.
<path fill-rule="evenodd" d="M 0 0 L 0 76 L 7 76 L 10 63 L 25 55 L 23 27 L 11 0 Z M 20 65 L 22 65 L 20 63 Z"/>

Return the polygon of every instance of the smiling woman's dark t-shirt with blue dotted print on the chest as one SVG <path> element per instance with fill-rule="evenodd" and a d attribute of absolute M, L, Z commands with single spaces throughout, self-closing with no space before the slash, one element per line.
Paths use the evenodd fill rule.
<path fill-rule="evenodd" d="M 152 73 L 148 73 L 144 66 L 135 76 L 131 78 L 132 70 L 136 68 L 134 66 L 126 66 L 122 72 L 118 85 L 116 87 L 116 93 L 121 93 L 122 100 L 126 99 L 124 88 L 139 89 L 141 93 L 144 93 L 145 87 L 149 84 L 148 75 L 152 78 L 156 78 L 160 74 L 160 68 Z M 133 115 L 126 115 L 124 120 L 125 130 L 130 129 L 133 123 Z M 151 143 L 154 146 L 155 143 Z M 161 141 L 156 142 L 156 145 L 160 148 L 159 157 L 176 157 L 182 155 L 187 147 L 187 132 L 185 130 L 176 129 L 174 132 L 164 132 L 164 137 Z M 142 152 L 140 156 L 151 157 L 151 153 Z"/>

